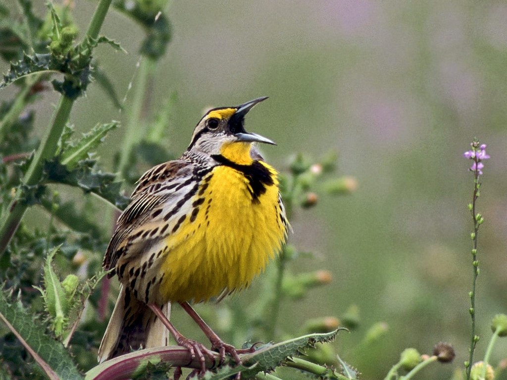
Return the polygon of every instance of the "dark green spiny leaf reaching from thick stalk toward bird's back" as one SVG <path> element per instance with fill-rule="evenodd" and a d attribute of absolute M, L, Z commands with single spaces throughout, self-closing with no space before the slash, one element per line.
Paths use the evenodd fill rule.
<path fill-rule="evenodd" d="M 120 192 L 121 182 L 115 180 L 116 176 L 97 169 L 92 159 L 80 161 L 73 170 L 68 170 L 55 159 L 46 162 L 44 170 L 50 181 L 80 187 L 85 193 L 96 194 L 120 210 L 127 207 L 130 201 Z"/>

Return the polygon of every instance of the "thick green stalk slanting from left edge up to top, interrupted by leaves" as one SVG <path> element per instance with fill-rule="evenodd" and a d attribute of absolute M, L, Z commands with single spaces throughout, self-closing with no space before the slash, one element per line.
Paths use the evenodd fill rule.
<path fill-rule="evenodd" d="M 92 37 L 93 39 L 97 38 L 98 32 L 102 26 L 111 2 L 112 0 L 100 0 L 93 18 L 90 21 L 90 25 L 88 26 L 87 35 L 89 37 Z M 68 122 L 70 110 L 73 104 L 74 99 L 70 99 L 65 95 L 60 97 L 52 124 L 42 139 L 41 145 L 35 152 L 35 156 L 33 157 L 30 167 L 25 175 L 24 183 L 26 185 L 36 184 L 42 177 L 44 162 L 54 157 L 58 139 L 62 134 L 63 127 Z M 16 198 L 11 202 L 7 218 L 0 222 L 0 253 L 4 252 L 6 249 L 26 210 L 27 205 L 21 202 L 19 196 L 20 195 L 18 193 Z"/>

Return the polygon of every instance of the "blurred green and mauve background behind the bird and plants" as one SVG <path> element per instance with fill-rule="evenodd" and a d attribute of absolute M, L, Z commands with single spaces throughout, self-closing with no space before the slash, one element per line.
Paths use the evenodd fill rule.
<path fill-rule="evenodd" d="M 95 3 L 75 6 L 83 31 Z M 278 143 L 262 147 L 268 162 L 284 171 L 298 152 L 318 159 L 337 150 L 340 174 L 357 178 L 351 196 L 322 197 L 295 215 L 291 243 L 317 255 L 295 260 L 291 271 L 329 269 L 333 282 L 302 302 L 285 302 L 282 320 L 296 334 L 306 319 L 340 317 L 356 304 L 359 328 L 335 345 L 365 379 L 384 377 L 404 348 L 430 354 L 440 340 L 454 345 L 456 360 L 426 378 L 448 378 L 467 359 L 472 217 L 466 204 L 473 175 L 462 153 L 474 136 L 488 144 L 478 204 L 486 218 L 477 293 L 476 357 L 482 358 L 492 316 L 507 311 L 507 3 L 194 0 L 172 2 L 167 14 L 172 41 L 152 84 L 152 107 L 177 94 L 170 151 L 185 150 L 205 107 L 269 96 L 246 121 L 247 130 Z M 123 98 L 143 33 L 114 10 L 102 33 L 128 51 L 99 47 L 95 54 Z M 57 95 L 35 105 L 40 131 Z M 87 95 L 71 116 L 79 130 L 126 120 L 97 86 Z M 100 151 L 110 170 L 109 152 L 122 137 L 119 128 Z M 387 333 L 358 349 L 378 321 L 387 323 Z M 493 362 L 506 353 L 503 339 Z"/>

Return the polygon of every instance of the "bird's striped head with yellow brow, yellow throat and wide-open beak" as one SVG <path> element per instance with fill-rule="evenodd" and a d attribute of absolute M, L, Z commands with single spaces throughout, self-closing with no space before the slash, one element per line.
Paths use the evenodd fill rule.
<path fill-rule="evenodd" d="M 188 150 L 209 156 L 222 155 L 239 164 L 251 161 L 250 147 L 253 142 L 276 145 L 270 139 L 244 129 L 246 113 L 266 99 L 262 97 L 238 106 L 210 109 L 195 127 Z"/>

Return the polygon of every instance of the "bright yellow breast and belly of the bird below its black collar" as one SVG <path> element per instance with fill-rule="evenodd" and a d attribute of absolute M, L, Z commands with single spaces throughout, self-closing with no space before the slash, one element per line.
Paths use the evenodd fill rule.
<path fill-rule="evenodd" d="M 215 167 L 203 178 L 187 215 L 166 244 L 162 300 L 202 301 L 224 289 L 241 290 L 261 273 L 285 241 L 276 171 L 260 162 L 272 183 L 253 196 L 243 172 Z"/>

